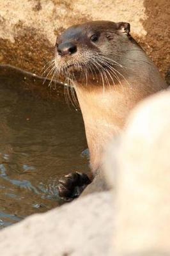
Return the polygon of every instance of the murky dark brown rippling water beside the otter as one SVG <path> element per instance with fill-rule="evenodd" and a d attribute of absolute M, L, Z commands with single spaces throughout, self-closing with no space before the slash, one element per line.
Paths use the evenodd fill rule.
<path fill-rule="evenodd" d="M 0 228 L 58 206 L 59 177 L 88 170 L 81 113 L 1 74 L 0 138 Z"/>

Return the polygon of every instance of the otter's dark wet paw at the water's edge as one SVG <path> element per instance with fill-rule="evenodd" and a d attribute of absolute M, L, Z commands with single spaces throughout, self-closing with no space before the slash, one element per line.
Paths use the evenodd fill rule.
<path fill-rule="evenodd" d="M 74 172 L 65 175 L 59 179 L 58 193 L 66 201 L 78 197 L 84 188 L 91 183 L 88 175 L 85 173 Z"/>

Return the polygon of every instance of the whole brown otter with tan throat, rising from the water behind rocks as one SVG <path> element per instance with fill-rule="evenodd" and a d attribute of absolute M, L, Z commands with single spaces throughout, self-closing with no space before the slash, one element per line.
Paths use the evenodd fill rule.
<path fill-rule="evenodd" d="M 59 180 L 59 195 L 73 198 L 86 186 L 83 193 L 109 189 L 102 174 L 106 145 L 123 131 L 137 102 L 167 84 L 127 22 L 99 20 L 66 29 L 56 40 L 55 68 L 76 92 L 94 177 L 91 182 L 84 173 L 66 175 Z"/>

